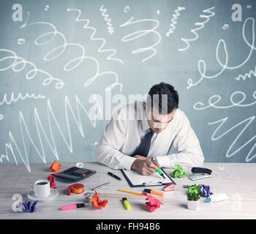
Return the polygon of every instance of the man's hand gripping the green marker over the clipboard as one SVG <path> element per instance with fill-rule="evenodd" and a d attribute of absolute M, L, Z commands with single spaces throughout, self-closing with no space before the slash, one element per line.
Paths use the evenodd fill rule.
<path fill-rule="evenodd" d="M 145 156 L 135 155 L 135 162 L 132 163 L 132 170 L 137 170 L 138 173 L 140 173 L 143 176 L 151 175 L 152 173 L 155 173 L 158 169 L 159 164 L 154 165 L 154 163 L 151 161 L 151 158 L 147 158 Z"/>

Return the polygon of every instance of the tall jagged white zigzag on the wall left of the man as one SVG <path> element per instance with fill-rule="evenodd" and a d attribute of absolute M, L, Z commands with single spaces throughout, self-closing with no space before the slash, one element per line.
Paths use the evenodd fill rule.
<path fill-rule="evenodd" d="M 26 150 L 26 143 L 25 143 L 25 140 L 24 140 L 24 135 L 27 135 L 27 137 L 29 137 L 30 143 L 32 144 L 34 149 L 37 151 L 37 154 L 42 159 L 42 162 L 46 163 L 45 148 L 44 148 L 43 143 L 42 143 L 42 137 L 45 137 L 45 140 L 47 141 L 48 146 L 50 147 L 50 150 L 53 152 L 56 159 L 59 159 L 55 139 L 53 137 L 52 127 L 51 127 L 51 124 L 50 124 L 50 122 L 51 122 L 50 119 L 51 118 L 55 122 L 56 127 L 59 129 L 59 133 L 61 134 L 61 137 L 63 138 L 64 142 L 66 143 L 67 148 L 69 149 L 70 153 L 73 153 L 72 137 L 71 137 L 70 127 L 69 127 L 70 124 L 69 124 L 69 117 L 68 117 L 69 116 L 68 108 L 69 108 L 69 112 L 72 113 L 72 117 L 74 118 L 75 124 L 77 125 L 78 130 L 80 132 L 80 135 L 82 137 L 85 137 L 85 135 L 84 135 L 84 132 L 83 132 L 83 126 L 82 126 L 82 122 L 81 122 L 81 118 L 80 118 L 80 109 L 79 109 L 79 107 L 82 108 L 84 113 L 86 113 L 86 116 L 89 117 L 89 120 L 91 121 L 91 124 L 92 124 L 93 127 L 96 127 L 96 123 L 97 123 L 97 118 L 96 118 L 96 116 L 94 116 L 95 112 L 96 112 L 95 110 L 100 110 L 100 105 L 99 105 L 99 102 L 98 102 L 96 96 L 94 96 L 94 105 L 90 108 L 89 111 L 87 111 L 86 108 L 83 107 L 83 104 L 80 102 L 80 99 L 78 98 L 77 95 L 75 96 L 75 102 L 76 102 L 76 109 L 77 109 L 77 117 L 75 116 L 75 113 L 72 110 L 72 106 L 70 105 L 69 98 L 67 96 L 65 96 L 65 117 L 66 117 L 67 132 L 68 132 L 68 140 L 66 140 L 66 137 L 64 136 L 64 133 L 62 132 L 61 127 L 59 126 L 59 122 L 58 122 L 55 114 L 53 113 L 53 108 L 50 105 L 50 100 L 48 99 L 47 113 L 48 113 L 48 126 L 49 126 L 49 129 L 50 129 L 51 143 L 50 143 L 50 140 L 48 139 L 48 136 L 45 133 L 44 127 L 42 127 L 42 122 L 40 120 L 37 108 L 36 107 L 34 108 L 34 122 L 35 122 L 36 127 L 37 127 L 37 136 L 38 137 L 31 137 L 31 134 L 29 133 L 29 129 L 28 129 L 27 124 L 26 124 L 26 120 L 23 116 L 23 112 L 20 111 L 20 113 L 19 113 L 20 134 L 21 134 L 21 140 L 23 142 L 23 151 L 24 151 L 25 156 L 23 156 L 23 154 L 21 154 L 20 148 L 18 148 L 15 137 L 13 137 L 12 132 L 9 131 L 10 143 L 5 144 L 5 154 L 1 154 L 0 162 L 2 162 L 3 159 L 7 159 L 8 161 L 10 161 L 10 158 L 9 158 L 9 156 L 10 156 L 9 151 L 10 151 L 10 153 L 12 154 L 13 159 L 15 160 L 16 165 L 18 165 L 17 156 L 15 155 L 15 151 L 14 151 L 14 149 L 15 149 L 16 151 L 18 151 L 18 156 L 20 156 L 20 158 L 22 159 L 22 162 L 26 166 L 26 169 L 29 171 L 29 173 L 31 172 L 31 168 L 30 168 L 30 165 L 29 165 L 29 159 L 28 159 L 28 153 L 27 153 L 27 150 Z M 102 111 L 100 110 L 99 113 L 102 113 Z M 39 145 L 40 145 L 41 152 L 39 151 L 39 148 L 37 148 L 36 144 L 34 143 L 34 139 L 39 139 Z M 29 144 L 29 143 L 27 143 L 27 144 Z"/>

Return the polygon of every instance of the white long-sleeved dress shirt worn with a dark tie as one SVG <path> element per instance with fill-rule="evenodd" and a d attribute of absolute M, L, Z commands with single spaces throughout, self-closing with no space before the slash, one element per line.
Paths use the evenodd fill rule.
<path fill-rule="evenodd" d="M 97 162 L 113 169 L 131 170 L 136 158 L 130 155 L 135 153 L 140 139 L 146 135 L 149 128 L 143 102 L 121 107 L 113 114 L 97 145 Z M 168 154 L 171 146 L 177 154 Z M 160 167 L 172 168 L 176 164 L 188 167 L 203 165 L 204 157 L 199 140 L 190 126 L 189 119 L 179 108 L 162 132 L 154 132 L 148 152 L 148 157 L 152 156 L 157 156 Z"/>

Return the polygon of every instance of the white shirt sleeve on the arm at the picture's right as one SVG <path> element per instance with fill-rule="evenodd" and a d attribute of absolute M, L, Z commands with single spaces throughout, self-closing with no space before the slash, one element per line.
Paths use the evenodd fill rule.
<path fill-rule="evenodd" d="M 199 140 L 189 123 L 189 119 L 183 112 L 178 121 L 173 147 L 177 154 L 157 156 L 161 167 L 173 168 L 176 164 L 184 167 L 201 167 L 203 165 L 204 156 Z"/>

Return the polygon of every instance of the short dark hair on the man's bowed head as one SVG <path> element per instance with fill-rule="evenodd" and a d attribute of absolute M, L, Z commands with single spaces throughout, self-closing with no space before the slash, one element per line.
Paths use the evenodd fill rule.
<path fill-rule="evenodd" d="M 158 108 L 159 113 L 169 114 L 178 108 L 178 92 L 168 83 L 162 82 L 152 86 L 148 92 L 148 99 L 153 100 L 151 107 Z"/>

